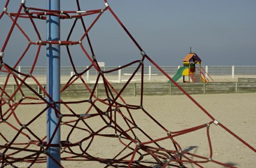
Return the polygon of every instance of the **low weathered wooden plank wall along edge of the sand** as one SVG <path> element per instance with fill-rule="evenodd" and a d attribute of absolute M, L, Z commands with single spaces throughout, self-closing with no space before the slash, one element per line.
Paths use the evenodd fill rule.
<path fill-rule="evenodd" d="M 125 83 L 113 83 L 113 87 L 119 92 Z M 256 93 L 256 78 L 239 78 L 238 82 L 214 82 L 214 83 L 179 83 L 189 94 L 219 94 L 219 93 Z M 38 85 L 30 85 L 37 93 L 43 95 Z M 16 85 L 7 85 L 5 91 L 12 95 L 16 90 Z M 45 87 L 45 86 L 44 86 Z M 61 85 L 61 88 L 63 85 Z M 88 84 L 93 90 L 94 84 Z M 2 88 L 2 86 L 1 86 Z M 35 97 L 35 93 L 30 91 L 25 85 L 22 91 L 26 96 Z M 0 91 L 1 92 L 1 91 Z M 114 94 L 114 92 L 113 92 Z M 136 96 L 141 94 L 141 83 L 129 83 L 123 90 L 123 96 Z M 183 94 L 173 83 L 144 83 L 143 95 L 180 95 Z M 89 96 L 90 92 L 84 84 L 72 84 L 61 93 L 61 98 L 82 98 Z M 98 84 L 95 89 L 95 95 L 101 97 L 106 95 L 103 84 Z M 116 94 L 114 94 L 116 95 Z M 45 95 L 43 95 L 45 97 Z M 17 92 L 14 99 L 19 100 L 22 97 L 20 91 Z M 3 95 L 6 99 L 6 94 Z"/>

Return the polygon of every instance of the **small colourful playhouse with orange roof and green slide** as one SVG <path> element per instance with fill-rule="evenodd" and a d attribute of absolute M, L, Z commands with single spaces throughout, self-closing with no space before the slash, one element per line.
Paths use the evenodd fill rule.
<path fill-rule="evenodd" d="M 211 82 L 213 82 L 213 78 L 201 67 L 201 59 L 198 57 L 196 53 L 189 53 L 183 59 L 184 67 L 180 67 L 177 73 L 172 77 L 172 79 L 176 82 L 183 76 L 183 82 L 190 83 L 206 83 L 209 82 L 208 78 L 210 78 Z M 199 67 L 197 66 L 199 65 Z M 185 77 L 188 77 L 188 80 L 185 81 Z M 170 83 L 171 81 L 168 81 Z"/>

